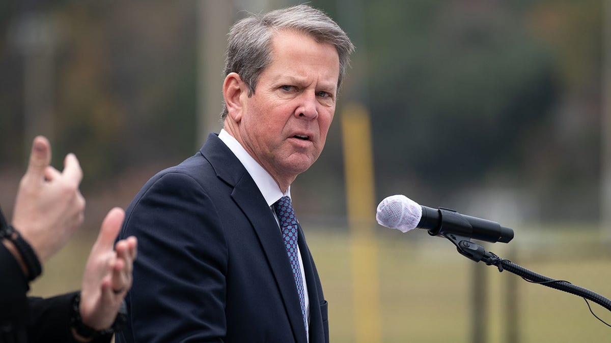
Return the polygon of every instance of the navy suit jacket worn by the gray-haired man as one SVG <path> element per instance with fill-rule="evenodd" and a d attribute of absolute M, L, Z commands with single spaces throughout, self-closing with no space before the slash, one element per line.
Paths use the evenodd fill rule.
<path fill-rule="evenodd" d="M 118 239 L 138 238 L 123 342 L 306 343 L 274 215 L 246 168 L 210 134 L 199 153 L 153 176 Z M 310 342 L 329 342 L 327 301 L 299 228 Z"/>

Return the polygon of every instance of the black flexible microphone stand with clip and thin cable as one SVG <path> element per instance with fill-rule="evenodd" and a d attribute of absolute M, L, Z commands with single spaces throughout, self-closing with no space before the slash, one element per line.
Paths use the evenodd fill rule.
<path fill-rule="evenodd" d="M 470 237 L 464 237 L 455 233 L 448 233 L 443 231 L 439 232 L 438 234 L 441 234 L 442 236 L 450 240 L 454 245 L 456 245 L 456 249 L 461 255 L 466 256 L 467 258 L 472 259 L 475 262 L 482 261 L 487 265 L 496 266 L 497 268 L 499 268 L 499 272 L 507 270 L 510 273 L 514 273 L 515 275 L 521 276 L 521 278 L 526 281 L 543 284 L 543 286 L 558 289 L 559 291 L 567 292 L 594 301 L 598 305 L 601 305 L 602 307 L 611 311 L 611 300 L 606 297 L 603 297 L 602 295 L 596 294 L 595 292 L 592 292 L 589 289 L 576 286 L 572 283 L 569 283 L 568 281 L 548 278 L 547 276 L 535 273 L 532 270 L 525 269 L 524 267 L 521 267 L 520 265 L 515 264 L 507 259 L 502 259 L 494 253 L 484 250 L 484 247 L 482 247 L 481 245 L 471 242 Z"/>

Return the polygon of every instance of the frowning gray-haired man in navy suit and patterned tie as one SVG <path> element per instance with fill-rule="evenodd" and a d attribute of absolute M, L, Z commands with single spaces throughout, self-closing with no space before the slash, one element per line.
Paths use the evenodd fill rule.
<path fill-rule="evenodd" d="M 117 342 L 329 341 L 290 184 L 323 150 L 353 49 L 307 5 L 233 25 L 224 128 L 126 211 L 119 237 L 141 248 Z"/>

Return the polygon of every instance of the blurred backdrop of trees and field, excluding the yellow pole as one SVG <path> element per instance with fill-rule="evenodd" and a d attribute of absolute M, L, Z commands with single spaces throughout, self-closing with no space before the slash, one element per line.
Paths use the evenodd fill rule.
<path fill-rule="evenodd" d="M 221 128 L 229 26 L 298 3 L 0 3 L 2 209 L 10 217 L 36 134 L 51 140 L 54 166 L 73 152 L 85 175 L 86 222 L 32 294 L 79 287 L 104 214 Z M 354 101 L 370 112 L 375 203 L 401 193 L 500 222 L 516 238 L 487 250 L 611 297 L 610 1 L 310 4 L 357 46 L 336 116 Z M 337 121 L 291 193 L 330 304 L 331 340 L 354 342 Z M 377 226 L 374 215 L 381 341 L 610 340 L 582 299 L 475 264 L 423 231 Z"/>

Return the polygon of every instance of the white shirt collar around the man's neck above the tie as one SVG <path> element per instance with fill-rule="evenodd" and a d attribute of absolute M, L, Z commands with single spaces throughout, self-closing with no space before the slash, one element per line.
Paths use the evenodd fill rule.
<path fill-rule="evenodd" d="M 225 145 L 238 157 L 246 171 L 251 175 L 251 178 L 257 184 L 258 189 L 261 191 L 263 198 L 268 203 L 268 206 L 272 206 L 276 201 L 282 197 L 291 197 L 291 186 L 288 186 L 287 192 L 282 193 L 280 187 L 276 183 L 276 180 L 269 175 L 254 158 L 244 149 L 244 147 L 225 129 L 221 129 L 219 132 L 219 139 L 222 140 Z"/>

